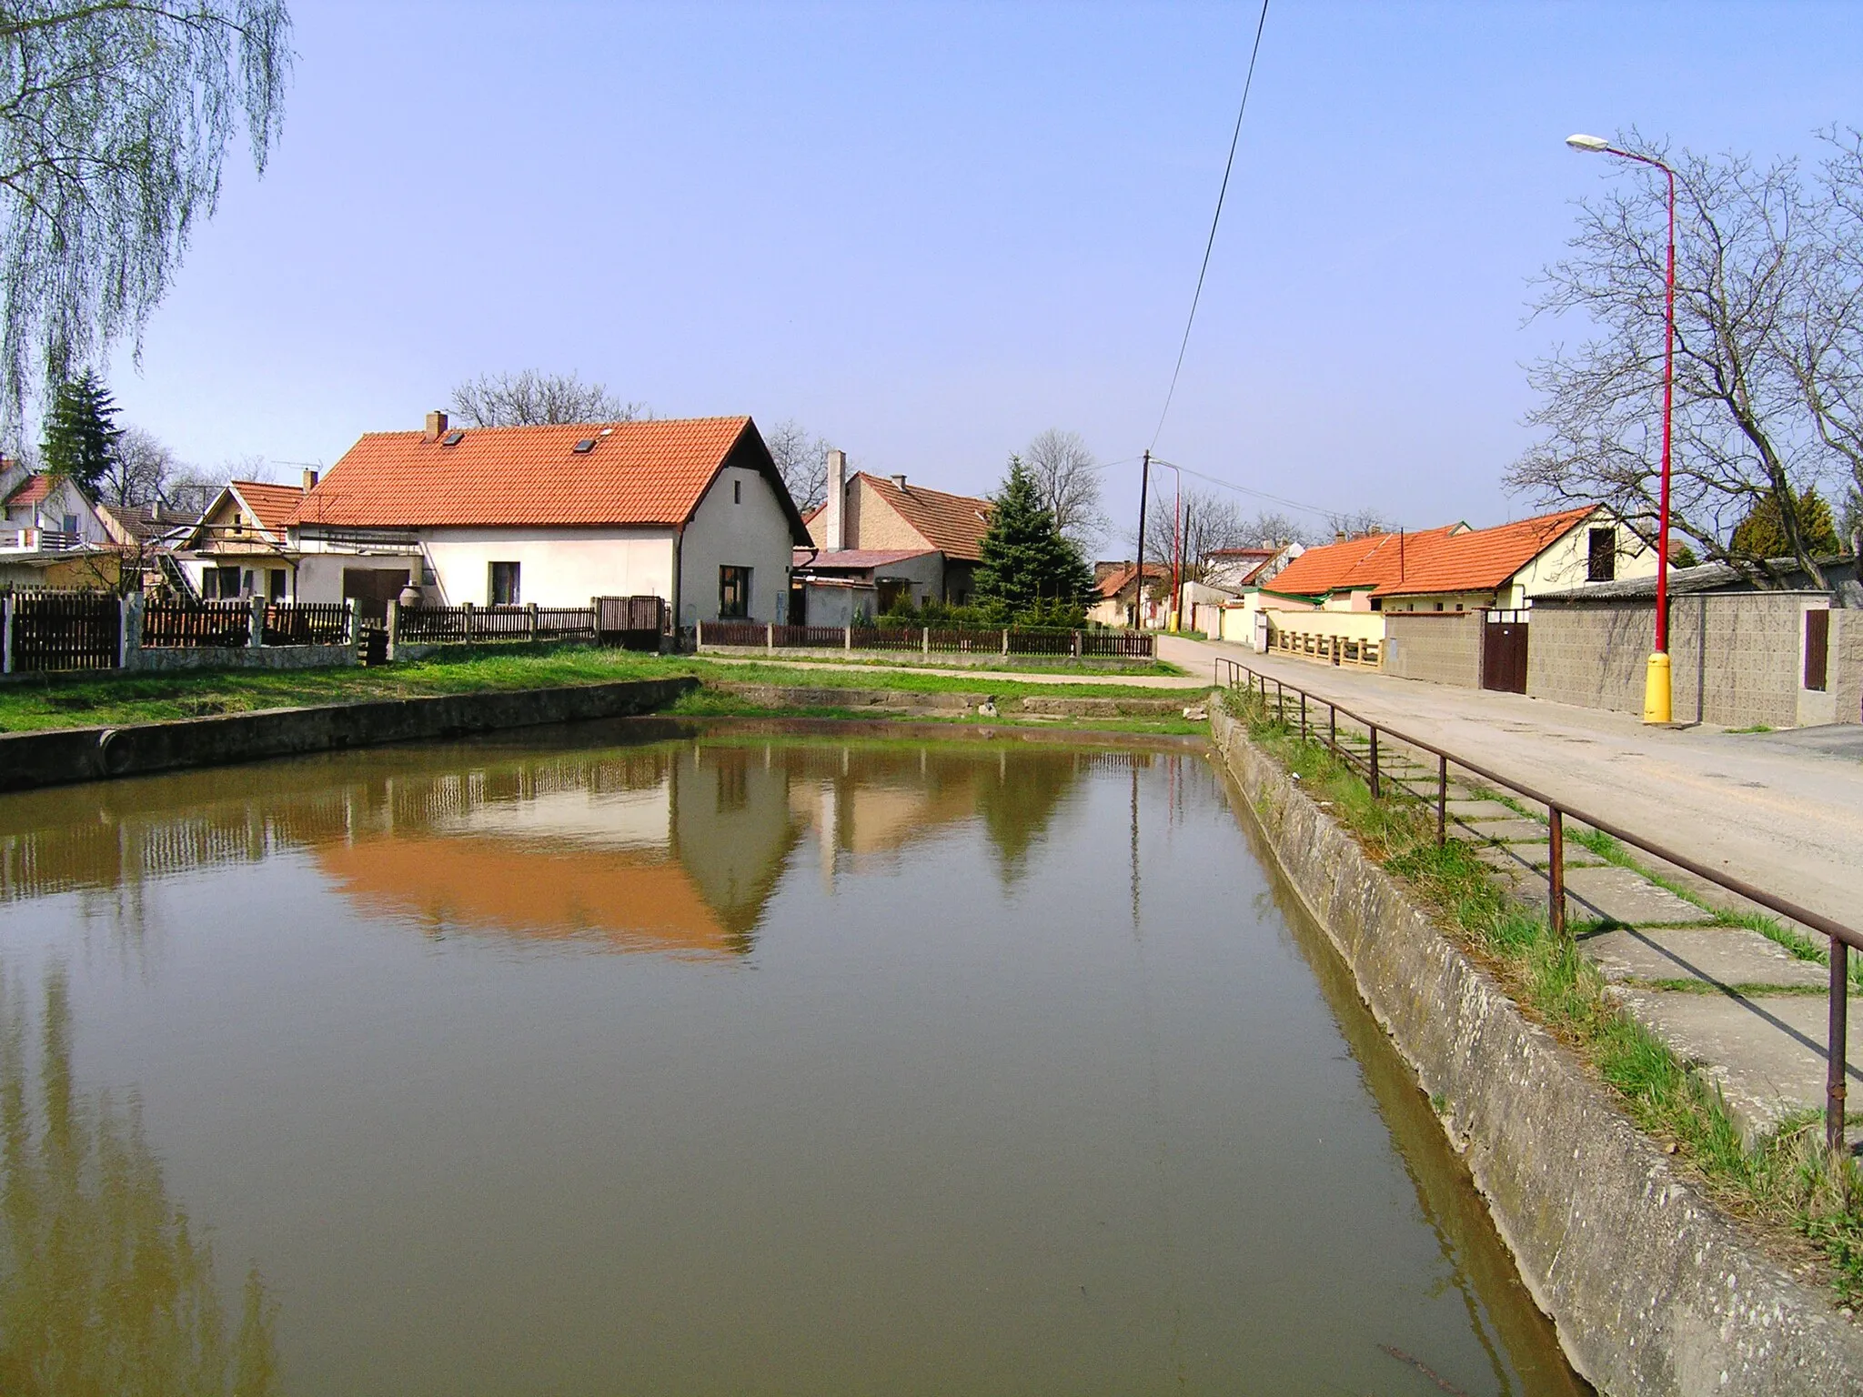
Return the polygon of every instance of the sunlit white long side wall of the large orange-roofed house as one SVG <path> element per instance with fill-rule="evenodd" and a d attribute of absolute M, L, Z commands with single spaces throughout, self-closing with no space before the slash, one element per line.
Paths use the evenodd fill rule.
<path fill-rule="evenodd" d="M 492 563 L 518 564 L 518 600 L 585 607 L 591 596 L 673 596 L 671 529 L 423 529 L 445 605 L 488 605 Z M 339 559 L 369 566 L 386 559 Z M 406 566 L 399 563 L 397 566 Z M 715 583 L 714 583 L 715 590 Z M 717 600 L 712 602 L 717 607 Z"/>

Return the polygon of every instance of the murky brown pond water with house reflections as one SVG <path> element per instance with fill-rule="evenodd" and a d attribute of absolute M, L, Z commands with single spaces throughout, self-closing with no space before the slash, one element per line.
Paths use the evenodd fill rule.
<path fill-rule="evenodd" d="M 637 732 L 0 797 L 0 1391 L 1584 1391 L 1205 758 Z"/>

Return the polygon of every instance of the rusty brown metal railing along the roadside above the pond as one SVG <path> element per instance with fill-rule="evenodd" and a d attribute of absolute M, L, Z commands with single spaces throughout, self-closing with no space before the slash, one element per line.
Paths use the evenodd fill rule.
<path fill-rule="evenodd" d="M 1436 792 L 1435 792 L 1435 814 L 1436 814 L 1436 844 L 1444 844 L 1449 836 L 1449 767 L 1461 767 L 1481 780 L 1498 786 L 1502 790 L 1513 792 L 1533 805 L 1546 807 L 1546 920 L 1552 926 L 1554 935 L 1565 937 L 1565 821 L 1576 820 L 1600 834 L 1610 834 L 1619 844 L 1628 844 L 1634 849 L 1641 849 L 1652 859 L 1660 859 L 1666 864 L 1682 868 L 1718 888 L 1733 892 L 1746 902 L 1757 903 L 1770 913 L 1777 913 L 1800 926 L 1818 931 L 1829 941 L 1829 1038 L 1826 1039 L 1826 1071 L 1824 1071 L 1824 1142 L 1833 1155 L 1844 1151 L 1844 1062 L 1848 1058 L 1848 1038 L 1850 1038 L 1850 950 L 1863 950 L 1863 931 L 1844 926 L 1822 913 L 1815 913 L 1809 907 L 1800 907 L 1788 898 L 1781 898 L 1775 892 L 1755 887 L 1744 879 L 1723 874 L 1699 859 L 1690 859 L 1686 853 L 1671 849 L 1667 846 L 1656 844 L 1656 840 L 1643 834 L 1632 833 L 1611 820 L 1600 820 L 1598 816 L 1580 810 L 1574 805 L 1546 795 L 1544 792 L 1524 786 L 1513 777 L 1503 777 L 1502 773 L 1481 766 L 1479 762 L 1470 762 L 1466 756 L 1457 756 L 1455 753 L 1438 747 L 1421 738 L 1414 738 L 1407 732 L 1399 732 L 1388 723 L 1379 723 L 1366 717 L 1364 713 L 1354 713 L 1334 698 L 1325 695 L 1310 693 L 1295 684 L 1285 684 L 1284 680 L 1263 674 L 1252 665 L 1241 659 L 1218 658 L 1213 665 L 1213 682 L 1220 689 L 1246 689 L 1248 693 L 1259 693 L 1263 704 L 1269 702 L 1269 685 L 1272 685 L 1274 695 L 1274 715 L 1278 721 L 1293 726 L 1299 721 L 1300 738 L 1321 739 L 1349 767 L 1362 771 L 1366 782 L 1371 786 L 1373 799 L 1382 795 L 1386 784 L 1394 784 L 1407 795 L 1425 799 L 1418 792 L 1410 790 L 1403 780 L 1392 780 L 1380 769 L 1379 756 L 1379 738 L 1412 747 L 1420 753 L 1429 753 L 1436 758 Z M 1291 708 L 1291 700 L 1299 700 L 1299 710 Z M 1326 728 L 1321 736 L 1319 730 L 1319 710 L 1325 710 Z M 1291 715 L 1295 713 L 1295 715 Z M 1367 743 L 1364 754 L 1353 751 L 1347 743 L 1339 741 L 1339 719 L 1347 723 L 1356 723 L 1366 730 Z M 1427 803 L 1427 801 L 1425 801 Z"/>

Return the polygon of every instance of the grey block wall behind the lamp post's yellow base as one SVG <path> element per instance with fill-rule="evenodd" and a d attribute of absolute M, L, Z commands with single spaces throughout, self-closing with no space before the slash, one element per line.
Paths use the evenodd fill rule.
<path fill-rule="evenodd" d="M 1857 708 L 1841 695 L 1863 684 L 1857 678 L 1863 643 L 1846 639 L 1841 644 L 1841 622 L 1831 628 L 1828 693 L 1802 689 L 1803 615 L 1824 605 L 1829 605 L 1824 592 L 1673 598 L 1669 682 L 1675 719 L 1731 728 L 1859 721 Z M 1526 691 L 1533 698 L 1641 713 L 1654 643 L 1649 602 L 1541 602 L 1533 607 Z"/>

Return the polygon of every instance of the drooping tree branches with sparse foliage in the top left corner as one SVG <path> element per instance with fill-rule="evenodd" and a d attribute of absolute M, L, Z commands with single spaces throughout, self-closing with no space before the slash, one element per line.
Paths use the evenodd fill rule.
<path fill-rule="evenodd" d="M 0 6 L 7 421 L 125 332 L 140 354 L 240 127 L 265 171 L 291 61 L 283 0 Z"/>

